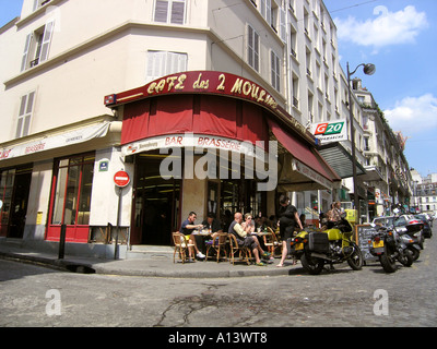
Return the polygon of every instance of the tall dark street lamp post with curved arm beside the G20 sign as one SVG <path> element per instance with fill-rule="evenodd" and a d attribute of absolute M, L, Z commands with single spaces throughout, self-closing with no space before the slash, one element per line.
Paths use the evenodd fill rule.
<path fill-rule="evenodd" d="M 354 181 L 354 206 L 357 213 L 357 218 L 359 222 L 359 198 L 358 198 L 358 183 L 356 179 L 356 157 L 355 157 L 355 128 L 354 128 L 354 113 L 352 110 L 352 88 L 351 88 L 351 76 L 356 73 L 359 67 L 364 67 L 363 71 L 366 75 L 373 75 L 376 72 L 375 64 L 362 63 L 355 68 L 353 72 L 349 69 L 347 62 L 347 88 L 349 88 L 349 121 L 351 124 L 351 143 L 352 143 L 352 176 Z"/>

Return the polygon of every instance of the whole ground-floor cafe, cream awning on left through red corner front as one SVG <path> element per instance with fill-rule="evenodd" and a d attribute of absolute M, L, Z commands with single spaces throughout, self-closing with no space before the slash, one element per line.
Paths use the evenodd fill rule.
<path fill-rule="evenodd" d="M 241 76 L 187 71 L 104 105 L 114 118 L 2 148 L 1 237 L 50 244 L 64 226 L 70 251 L 109 256 L 117 239 L 126 257 L 134 245 L 169 246 L 192 210 L 198 222 L 269 217 L 282 193 L 341 182 L 314 135 Z"/>

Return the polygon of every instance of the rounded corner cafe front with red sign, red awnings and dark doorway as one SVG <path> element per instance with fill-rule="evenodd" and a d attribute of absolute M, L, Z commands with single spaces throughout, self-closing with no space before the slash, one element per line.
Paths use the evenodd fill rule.
<path fill-rule="evenodd" d="M 226 229 L 235 212 L 274 215 L 279 193 L 340 182 L 314 136 L 237 75 L 168 75 L 105 105 L 122 116 L 121 154 L 132 164 L 131 244 L 169 245 L 190 212 Z"/>

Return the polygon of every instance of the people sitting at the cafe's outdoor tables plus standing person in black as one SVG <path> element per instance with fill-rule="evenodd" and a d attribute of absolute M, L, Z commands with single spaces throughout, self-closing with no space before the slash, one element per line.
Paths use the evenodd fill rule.
<path fill-rule="evenodd" d="M 298 229 L 303 230 L 305 225 L 300 221 L 299 215 L 295 206 L 291 205 L 290 198 L 285 195 L 281 195 L 280 197 L 280 210 L 279 217 L 275 225 L 280 228 L 280 236 L 282 240 L 282 256 L 281 262 L 276 265 L 277 267 L 283 267 L 285 258 L 287 256 L 287 239 L 292 238 L 295 231 Z M 180 227 L 180 232 L 185 236 L 186 240 L 193 246 L 196 250 L 196 255 L 198 258 L 204 258 L 205 255 L 199 250 L 198 244 L 196 242 L 196 234 L 199 230 L 204 229 L 205 227 L 211 233 L 212 241 L 218 236 L 218 233 L 223 232 L 222 226 L 218 220 L 214 218 L 214 215 L 209 215 L 206 220 L 201 225 L 196 224 L 197 214 L 191 212 L 188 218 L 182 222 Z M 258 218 L 257 218 L 258 219 Z M 261 219 L 261 218 L 259 218 Z M 258 227 L 262 227 L 262 222 L 259 221 Z M 275 228 L 275 227 L 274 227 Z M 273 230 L 274 230 L 273 228 Z M 263 227 L 261 228 L 263 230 Z M 263 241 L 261 241 L 260 237 L 257 236 L 260 229 L 256 228 L 256 224 L 253 221 L 253 216 L 251 214 L 246 214 L 243 216 L 241 213 L 237 212 L 234 214 L 234 220 L 231 222 L 227 229 L 228 234 L 234 234 L 239 246 L 248 248 L 253 257 L 257 266 L 267 265 L 262 260 L 270 261 L 272 260 L 272 255 L 270 252 L 264 251 Z M 192 260 L 193 251 L 189 249 L 189 258 Z"/>

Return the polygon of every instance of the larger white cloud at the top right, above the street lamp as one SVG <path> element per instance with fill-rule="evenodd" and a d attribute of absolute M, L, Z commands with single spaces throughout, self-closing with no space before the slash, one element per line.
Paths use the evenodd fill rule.
<path fill-rule="evenodd" d="M 420 32 L 428 26 L 426 13 L 417 12 L 413 5 L 398 12 L 379 5 L 375 8 L 374 15 L 377 17 L 366 21 L 352 16 L 335 19 L 339 38 L 359 46 L 380 48 L 414 43 Z"/>

